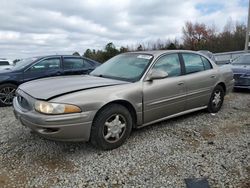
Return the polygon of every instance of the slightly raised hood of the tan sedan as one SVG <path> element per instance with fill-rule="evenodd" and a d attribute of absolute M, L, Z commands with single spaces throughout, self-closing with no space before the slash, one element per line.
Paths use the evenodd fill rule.
<path fill-rule="evenodd" d="M 34 80 L 20 85 L 19 89 L 36 99 L 49 100 L 76 91 L 127 83 L 129 82 L 82 75 Z"/>

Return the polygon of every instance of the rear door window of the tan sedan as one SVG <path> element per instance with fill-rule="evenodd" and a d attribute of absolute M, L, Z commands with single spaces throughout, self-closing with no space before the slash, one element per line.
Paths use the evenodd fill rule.
<path fill-rule="evenodd" d="M 204 71 L 204 65 L 200 55 L 187 53 L 182 54 L 182 57 L 186 68 L 186 74 Z"/>

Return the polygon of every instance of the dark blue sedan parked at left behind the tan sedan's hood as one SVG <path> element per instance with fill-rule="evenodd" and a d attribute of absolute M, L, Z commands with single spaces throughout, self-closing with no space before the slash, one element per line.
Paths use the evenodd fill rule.
<path fill-rule="evenodd" d="M 51 76 L 88 74 L 100 63 L 72 55 L 53 55 L 23 59 L 0 70 L 0 106 L 12 105 L 16 88 L 27 81 Z"/>

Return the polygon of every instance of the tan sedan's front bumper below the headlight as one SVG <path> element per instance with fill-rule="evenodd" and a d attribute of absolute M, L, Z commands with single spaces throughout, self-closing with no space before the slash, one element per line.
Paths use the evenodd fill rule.
<path fill-rule="evenodd" d="M 44 115 L 34 110 L 25 110 L 15 97 L 14 114 L 26 127 L 39 135 L 61 141 L 88 141 L 94 112 L 82 112 L 64 115 Z"/>

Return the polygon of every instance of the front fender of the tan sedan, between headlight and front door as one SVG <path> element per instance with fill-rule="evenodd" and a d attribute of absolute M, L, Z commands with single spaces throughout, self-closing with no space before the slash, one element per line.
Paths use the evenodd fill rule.
<path fill-rule="evenodd" d="M 88 89 L 53 98 L 50 102 L 67 103 L 79 106 L 83 111 L 98 112 L 103 106 L 115 101 L 130 103 L 137 116 L 137 123 L 142 123 L 142 83 L 128 83 L 115 86 Z"/>

